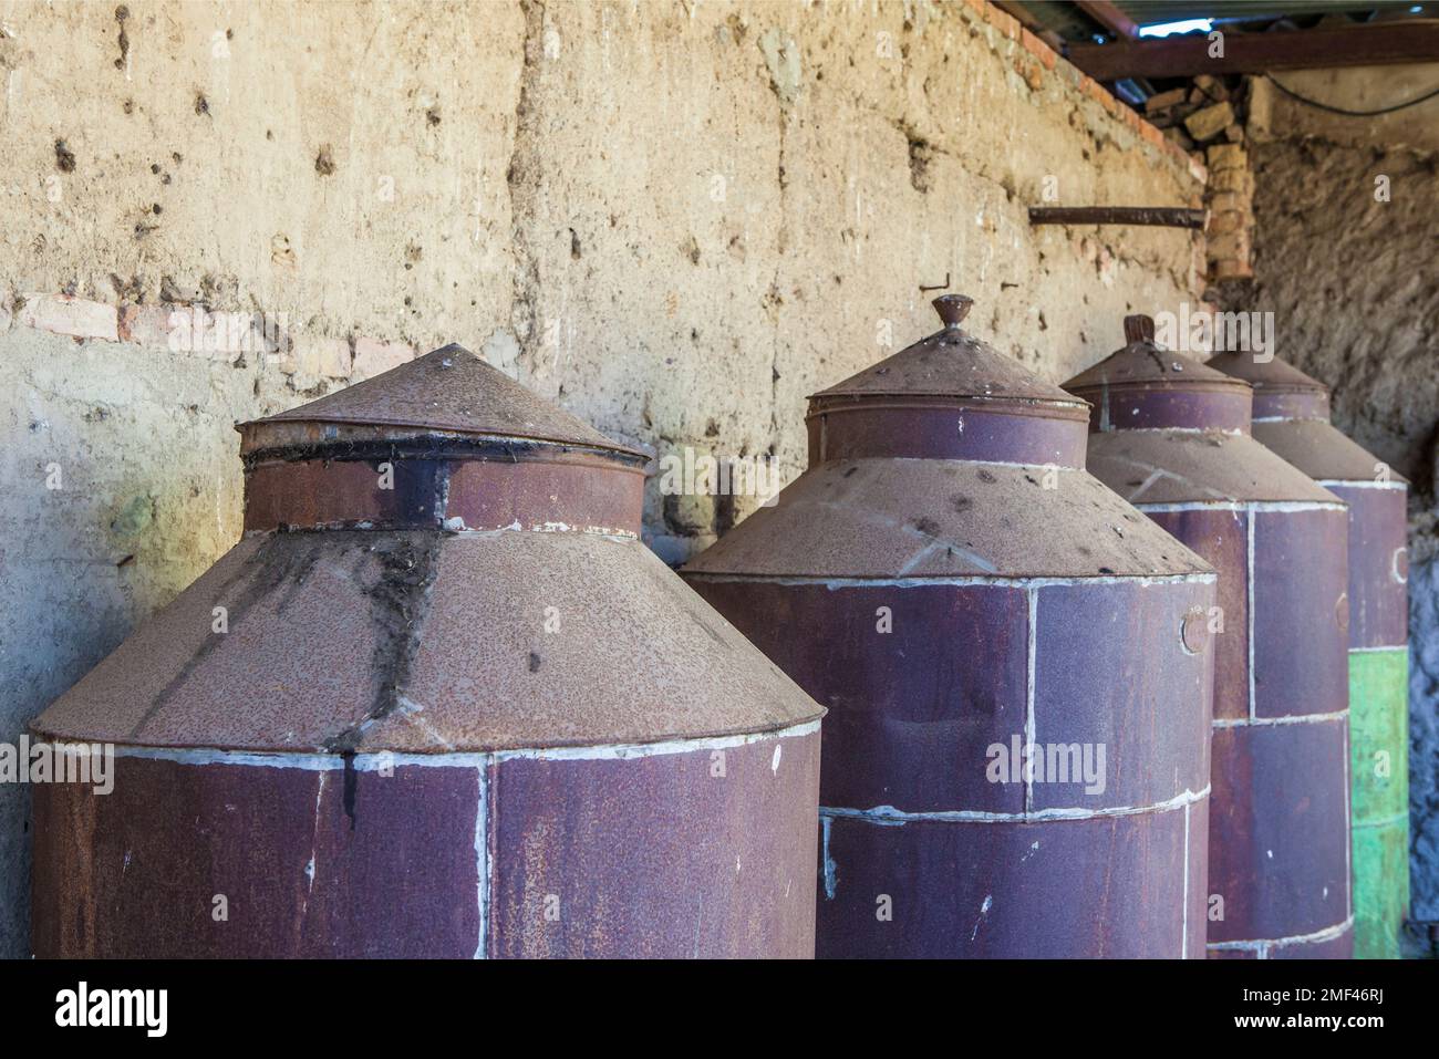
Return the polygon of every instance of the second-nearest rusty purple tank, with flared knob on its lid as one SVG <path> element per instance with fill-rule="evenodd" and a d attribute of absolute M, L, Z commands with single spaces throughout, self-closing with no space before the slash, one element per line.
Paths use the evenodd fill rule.
<path fill-rule="evenodd" d="M 829 709 L 817 954 L 1203 955 L 1215 573 L 935 306 L 684 571 Z"/>

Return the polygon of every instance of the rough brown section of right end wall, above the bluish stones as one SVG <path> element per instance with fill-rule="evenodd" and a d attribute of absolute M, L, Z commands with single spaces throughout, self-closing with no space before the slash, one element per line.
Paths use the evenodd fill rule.
<path fill-rule="evenodd" d="M 1334 422 L 1429 489 L 1439 407 L 1439 168 L 1321 140 L 1255 148 L 1255 285 L 1276 354 L 1333 390 Z M 1376 201 L 1376 178 L 1390 200 Z"/>

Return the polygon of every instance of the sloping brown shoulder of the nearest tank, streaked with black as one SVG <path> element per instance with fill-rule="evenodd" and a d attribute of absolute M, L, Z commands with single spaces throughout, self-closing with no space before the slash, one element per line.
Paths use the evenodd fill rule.
<path fill-rule="evenodd" d="M 639 541 L 591 534 L 249 537 L 35 727 L 161 747 L 425 754 L 702 738 L 819 715 L 675 588 Z M 212 632 L 214 607 L 227 610 L 224 635 Z"/>

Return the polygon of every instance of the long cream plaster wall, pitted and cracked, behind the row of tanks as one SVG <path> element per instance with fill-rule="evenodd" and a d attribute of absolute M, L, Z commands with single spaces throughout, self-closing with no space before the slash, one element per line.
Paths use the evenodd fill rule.
<path fill-rule="evenodd" d="M 414 350 L 787 479 L 803 396 L 934 329 L 920 285 L 1052 380 L 1196 289 L 1186 233 L 1030 229 L 1203 174 L 983 4 L 0 0 L 0 741 L 237 538 L 235 420 Z M 292 348 L 174 351 L 194 304 Z M 646 527 L 678 560 L 715 505 Z"/>

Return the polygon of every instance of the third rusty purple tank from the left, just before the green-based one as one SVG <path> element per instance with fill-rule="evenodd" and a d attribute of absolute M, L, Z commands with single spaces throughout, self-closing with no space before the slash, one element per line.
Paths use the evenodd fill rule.
<path fill-rule="evenodd" d="M 1259 445 L 1249 384 L 1154 342 L 1065 388 L 1094 406 L 1088 466 L 1219 571 L 1212 957 L 1347 957 L 1347 511 Z"/>

